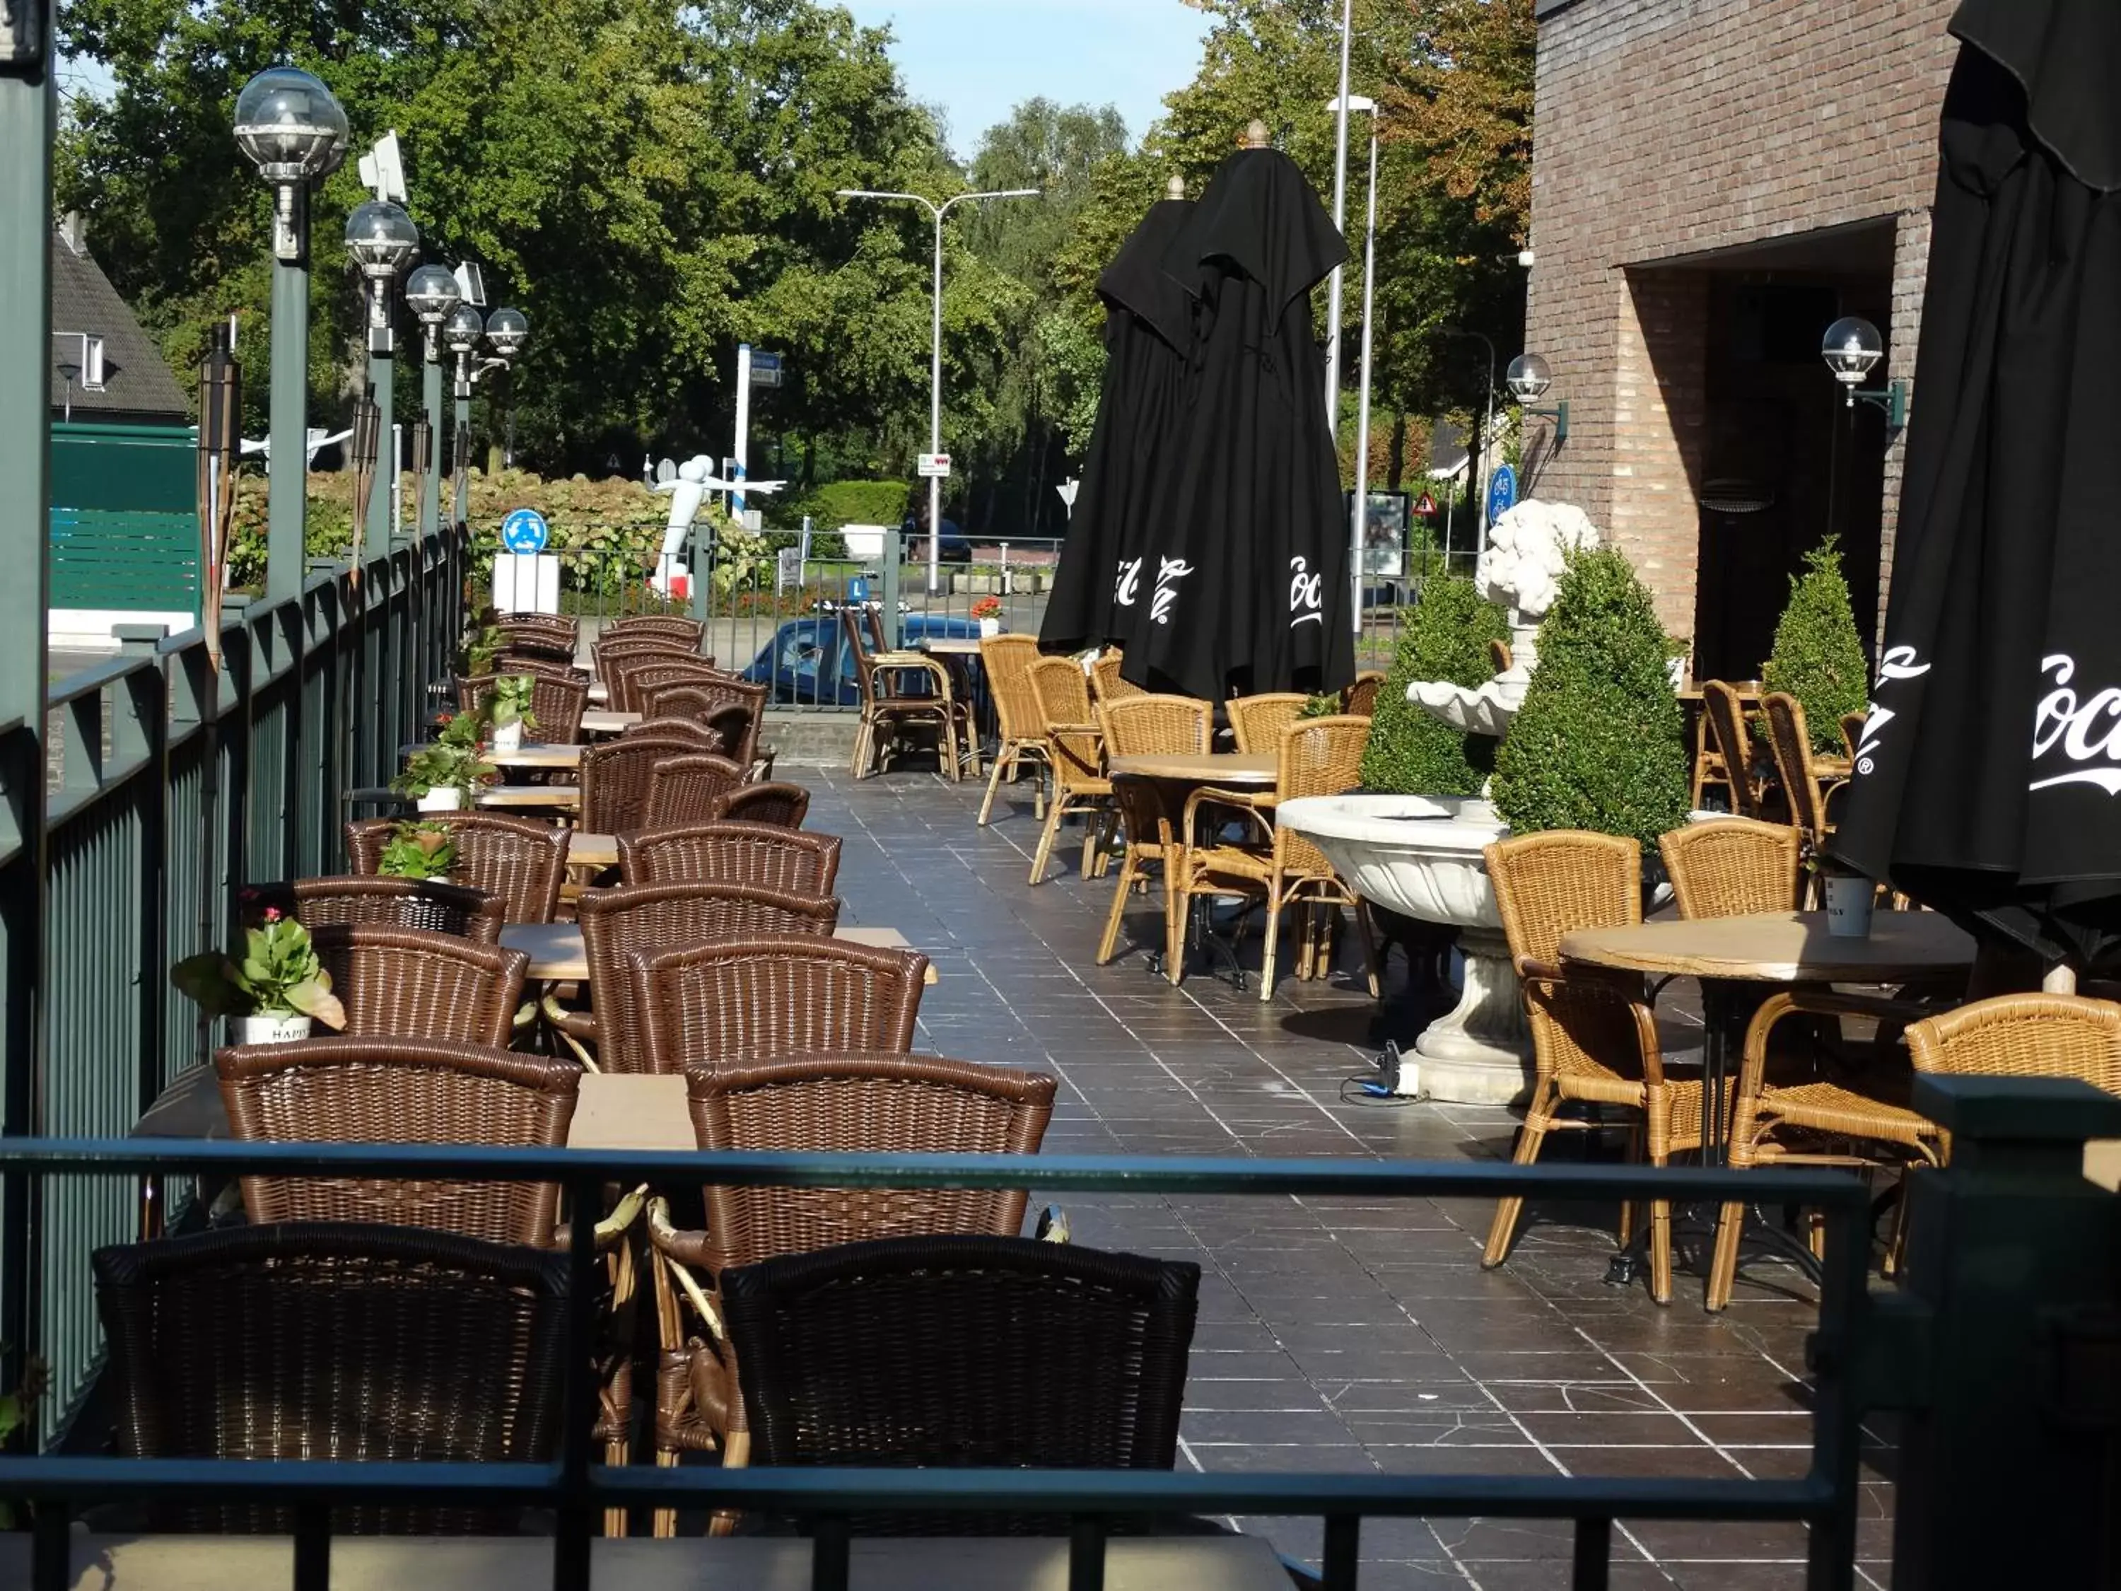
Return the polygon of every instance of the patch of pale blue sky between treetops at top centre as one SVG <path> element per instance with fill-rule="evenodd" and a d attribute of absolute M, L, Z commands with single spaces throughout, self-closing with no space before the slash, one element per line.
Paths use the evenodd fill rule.
<path fill-rule="evenodd" d="M 923 104 L 950 119 L 950 148 L 971 155 L 1010 108 L 1044 93 L 1118 106 L 1137 142 L 1162 98 L 1192 83 L 1207 17 L 1179 0 L 838 0 L 865 25 L 889 23 L 891 57 Z"/>

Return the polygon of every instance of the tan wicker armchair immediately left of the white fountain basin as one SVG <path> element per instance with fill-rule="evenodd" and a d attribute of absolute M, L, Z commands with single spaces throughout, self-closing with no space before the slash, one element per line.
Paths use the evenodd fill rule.
<path fill-rule="evenodd" d="M 1370 908 L 1349 889 L 1326 853 L 1294 829 L 1273 823 L 1273 812 L 1281 802 L 1300 796 L 1338 796 L 1362 783 L 1362 751 L 1370 742 L 1370 719 L 1324 717 L 1300 719 L 1281 732 L 1275 789 L 1215 789 L 1203 787 L 1186 798 L 1186 819 L 1179 838 L 1186 849 L 1179 855 L 1177 899 L 1173 914 L 1179 925 L 1194 895 L 1249 895 L 1266 906 L 1266 948 L 1260 959 L 1260 999 L 1275 997 L 1275 950 L 1281 933 L 1281 912 L 1287 906 L 1304 908 L 1307 923 L 1296 959 L 1298 978 L 1324 978 L 1332 967 L 1330 919 L 1336 906 L 1347 906 L 1355 914 L 1355 936 L 1362 942 L 1364 976 L 1370 997 L 1377 982 L 1377 936 L 1370 929 Z M 1226 840 L 1196 842 L 1203 806 L 1226 806 L 1249 817 L 1258 829 L 1256 844 L 1230 844 Z M 1313 921 L 1317 919 L 1317 921 Z M 1184 967 L 1171 961 L 1171 982 L 1179 982 Z"/>

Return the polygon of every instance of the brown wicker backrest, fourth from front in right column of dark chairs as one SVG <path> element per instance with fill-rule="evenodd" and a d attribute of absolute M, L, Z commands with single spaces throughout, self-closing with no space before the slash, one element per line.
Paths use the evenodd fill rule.
<path fill-rule="evenodd" d="M 829 938 L 840 925 L 840 902 L 757 885 L 621 885 L 585 889 L 575 914 L 590 961 L 596 1065 L 677 1071 L 651 1063 L 649 1012 L 641 1006 L 632 957 L 766 936 Z"/>

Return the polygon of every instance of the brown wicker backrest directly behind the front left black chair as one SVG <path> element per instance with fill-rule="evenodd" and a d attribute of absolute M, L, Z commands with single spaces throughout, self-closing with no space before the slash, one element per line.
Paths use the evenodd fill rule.
<path fill-rule="evenodd" d="M 581 1067 L 549 1054 L 433 1039 L 305 1039 L 216 1050 L 221 1101 L 244 1141 L 564 1148 Z M 551 1247 L 556 1182 L 244 1177 L 252 1226 L 382 1222 Z"/>

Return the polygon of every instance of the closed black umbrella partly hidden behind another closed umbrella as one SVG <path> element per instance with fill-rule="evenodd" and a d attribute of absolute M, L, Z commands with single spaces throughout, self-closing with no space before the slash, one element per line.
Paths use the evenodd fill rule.
<path fill-rule="evenodd" d="M 1156 460 L 1186 405 L 1192 297 L 1162 269 L 1192 216 L 1190 199 L 1158 199 L 1097 278 L 1105 299 L 1105 384 L 1069 515 L 1054 590 L 1039 624 L 1048 651 L 1120 639 L 1114 602 L 1133 602 Z"/>

